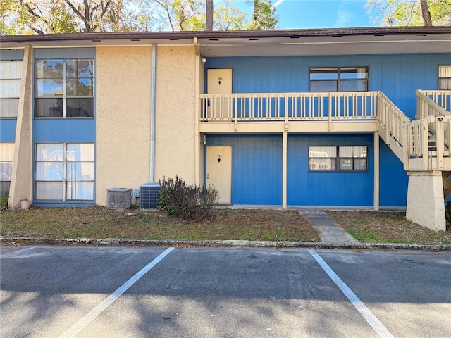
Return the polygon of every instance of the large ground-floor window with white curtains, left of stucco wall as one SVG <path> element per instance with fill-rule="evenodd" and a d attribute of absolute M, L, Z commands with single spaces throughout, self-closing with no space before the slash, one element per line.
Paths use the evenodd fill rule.
<path fill-rule="evenodd" d="M 35 199 L 92 201 L 94 144 L 36 144 Z"/>

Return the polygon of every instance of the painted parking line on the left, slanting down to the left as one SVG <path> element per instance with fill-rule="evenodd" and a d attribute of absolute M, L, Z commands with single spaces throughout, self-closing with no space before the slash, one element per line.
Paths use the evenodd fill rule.
<path fill-rule="evenodd" d="M 122 284 L 115 292 L 110 294 L 106 299 L 101 301 L 99 305 L 89 311 L 84 315 L 77 323 L 75 323 L 69 330 L 61 334 L 60 338 L 75 337 L 81 330 L 83 330 L 89 323 L 92 322 L 100 313 L 102 313 L 106 308 L 108 308 L 113 301 L 116 301 L 125 291 L 127 291 L 137 280 L 139 280 L 145 273 L 152 269 L 157 263 L 159 263 L 163 258 L 168 256 L 168 253 L 173 251 L 174 248 L 168 248 L 160 256 L 156 257 L 152 262 L 144 266 L 140 271 L 138 271 L 133 277 L 127 282 Z"/>

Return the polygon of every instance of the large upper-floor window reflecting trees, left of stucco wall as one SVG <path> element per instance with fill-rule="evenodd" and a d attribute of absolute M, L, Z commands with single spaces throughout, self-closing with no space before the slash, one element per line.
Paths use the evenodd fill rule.
<path fill-rule="evenodd" d="M 37 59 L 35 116 L 94 117 L 94 59 Z"/>

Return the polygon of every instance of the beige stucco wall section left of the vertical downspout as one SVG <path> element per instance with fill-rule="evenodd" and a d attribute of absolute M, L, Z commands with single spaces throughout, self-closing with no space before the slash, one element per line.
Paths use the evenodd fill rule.
<path fill-rule="evenodd" d="M 150 176 L 152 46 L 96 51 L 96 204 Z"/>

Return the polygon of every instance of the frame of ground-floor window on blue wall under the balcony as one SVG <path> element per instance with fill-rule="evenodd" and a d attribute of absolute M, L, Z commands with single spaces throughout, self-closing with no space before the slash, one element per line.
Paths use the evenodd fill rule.
<path fill-rule="evenodd" d="M 331 156 L 326 156 L 326 157 L 323 157 L 323 156 L 310 156 L 310 149 L 311 148 L 321 148 L 321 147 L 333 147 L 333 148 L 335 148 L 335 157 L 331 157 Z M 364 154 L 366 155 L 365 157 L 362 157 L 362 156 L 352 156 L 352 157 L 350 157 L 350 156 L 341 156 L 340 155 L 340 147 L 355 147 L 355 148 L 357 148 L 357 147 L 365 147 L 365 150 L 364 150 Z M 307 149 L 307 156 L 308 156 L 308 161 L 307 161 L 307 165 L 308 165 L 308 171 L 309 172 L 326 172 L 326 173 L 337 173 L 337 172 L 342 172 L 342 173 L 366 173 L 366 172 L 368 172 L 368 149 L 369 149 L 369 146 L 368 145 L 356 145 L 356 144 L 352 144 L 352 145 L 343 145 L 343 144 L 341 144 L 341 145 L 338 145 L 338 146 L 336 146 L 336 145 L 321 145 L 321 146 L 317 146 L 317 145 L 311 145 L 311 146 L 309 146 L 308 147 L 308 149 Z M 354 152 L 354 150 L 353 150 L 353 152 Z M 356 165 L 356 160 L 357 159 L 364 159 L 364 169 L 359 169 L 359 168 L 356 168 L 358 165 Z M 313 163 L 311 163 L 311 161 L 315 161 L 315 160 L 330 160 L 331 161 L 331 165 L 330 165 L 330 167 L 331 167 L 331 169 L 323 169 L 323 168 L 320 168 L 320 169 L 314 169 L 314 168 L 312 168 L 312 164 Z M 352 163 L 352 169 L 341 169 L 341 161 L 342 160 L 347 160 L 347 161 L 351 161 L 351 163 Z"/>

